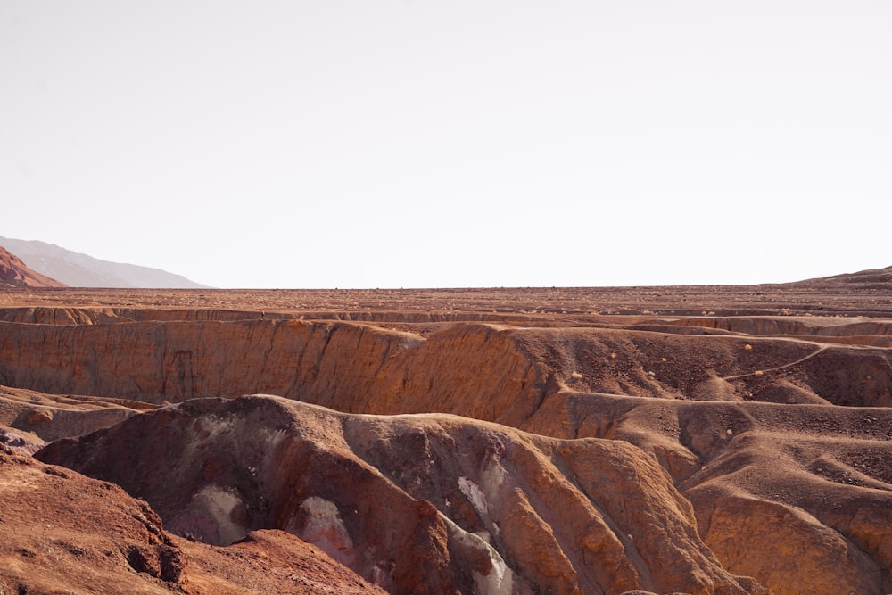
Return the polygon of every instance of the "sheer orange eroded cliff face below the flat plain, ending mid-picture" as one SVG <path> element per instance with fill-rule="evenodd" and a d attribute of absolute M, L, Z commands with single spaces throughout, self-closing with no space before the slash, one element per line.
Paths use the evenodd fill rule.
<path fill-rule="evenodd" d="M 344 411 L 533 412 L 545 382 L 507 331 L 349 323 L 3 323 L 0 384 L 159 403 L 273 393 Z"/>

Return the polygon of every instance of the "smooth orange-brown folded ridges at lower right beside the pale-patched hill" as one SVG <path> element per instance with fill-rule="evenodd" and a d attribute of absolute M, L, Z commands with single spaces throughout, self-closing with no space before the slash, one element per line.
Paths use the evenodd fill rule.
<path fill-rule="evenodd" d="M 524 427 L 637 444 L 723 566 L 774 593 L 889 592 L 892 410 L 562 393 Z"/>

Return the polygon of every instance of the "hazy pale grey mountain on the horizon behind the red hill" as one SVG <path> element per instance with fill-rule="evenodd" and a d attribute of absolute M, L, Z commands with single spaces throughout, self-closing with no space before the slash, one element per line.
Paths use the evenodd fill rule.
<path fill-rule="evenodd" d="M 202 289 L 186 277 L 161 269 L 95 259 L 54 244 L 0 236 L 0 246 L 17 255 L 29 268 L 71 287 L 145 287 Z"/>

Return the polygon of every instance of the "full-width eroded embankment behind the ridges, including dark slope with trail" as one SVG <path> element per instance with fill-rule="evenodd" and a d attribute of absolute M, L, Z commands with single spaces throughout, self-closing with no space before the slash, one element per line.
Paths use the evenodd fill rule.
<path fill-rule="evenodd" d="M 617 328 L 453 325 L 426 338 L 301 320 L 0 323 L 0 384 L 159 403 L 272 393 L 347 412 L 516 426 L 560 388 L 638 397 L 892 405 L 892 351 Z"/>

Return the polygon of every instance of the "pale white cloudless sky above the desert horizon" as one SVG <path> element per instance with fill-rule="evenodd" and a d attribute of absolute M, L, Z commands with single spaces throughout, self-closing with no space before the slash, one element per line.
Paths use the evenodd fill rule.
<path fill-rule="evenodd" d="M 0 0 L 0 236 L 217 287 L 892 265 L 892 2 Z"/>

